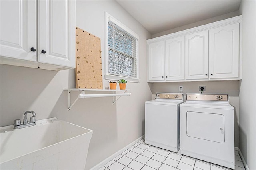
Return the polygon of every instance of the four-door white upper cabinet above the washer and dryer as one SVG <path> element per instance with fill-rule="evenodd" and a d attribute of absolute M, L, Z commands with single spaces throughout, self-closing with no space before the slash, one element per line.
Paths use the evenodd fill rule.
<path fill-rule="evenodd" d="M 241 80 L 241 21 L 237 16 L 148 40 L 148 82 Z M 150 53 L 156 41 L 164 43 L 161 57 Z"/>

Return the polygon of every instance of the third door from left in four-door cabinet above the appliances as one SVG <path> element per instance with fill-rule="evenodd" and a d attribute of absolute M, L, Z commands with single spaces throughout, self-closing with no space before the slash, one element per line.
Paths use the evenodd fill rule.
<path fill-rule="evenodd" d="M 185 36 L 185 79 L 208 79 L 208 30 Z"/>

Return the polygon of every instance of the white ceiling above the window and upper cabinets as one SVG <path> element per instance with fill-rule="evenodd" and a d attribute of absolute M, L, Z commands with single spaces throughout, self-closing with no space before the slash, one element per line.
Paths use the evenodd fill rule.
<path fill-rule="evenodd" d="M 117 0 L 150 33 L 234 12 L 241 0 Z"/>

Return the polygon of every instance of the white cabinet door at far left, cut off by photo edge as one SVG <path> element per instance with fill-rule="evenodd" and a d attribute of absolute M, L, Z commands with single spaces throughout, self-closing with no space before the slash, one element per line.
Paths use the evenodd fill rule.
<path fill-rule="evenodd" d="M 0 6 L 0 55 L 36 61 L 36 0 L 5 0 Z"/>

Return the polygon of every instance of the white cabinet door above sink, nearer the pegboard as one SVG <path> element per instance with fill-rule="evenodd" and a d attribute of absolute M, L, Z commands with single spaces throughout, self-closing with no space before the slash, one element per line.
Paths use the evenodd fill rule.
<path fill-rule="evenodd" d="M 74 0 L 39 0 L 38 62 L 74 68 L 75 29 Z"/>

